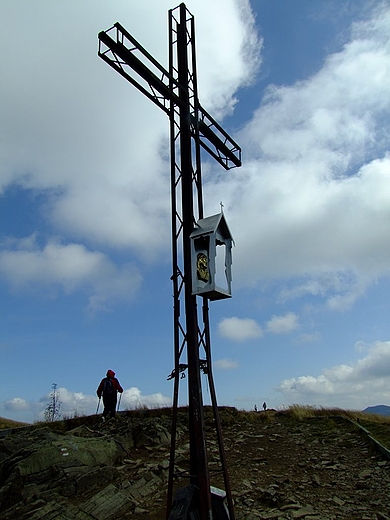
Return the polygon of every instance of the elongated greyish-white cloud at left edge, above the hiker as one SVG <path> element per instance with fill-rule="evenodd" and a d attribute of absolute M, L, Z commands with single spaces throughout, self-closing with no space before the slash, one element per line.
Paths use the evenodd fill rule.
<path fill-rule="evenodd" d="M 141 276 L 130 264 L 117 267 L 98 251 L 80 244 L 48 242 L 40 248 L 31 237 L 13 240 L 0 251 L 2 277 L 15 289 L 25 287 L 60 287 L 72 294 L 89 293 L 91 312 L 102 310 L 118 300 L 134 297 Z"/>

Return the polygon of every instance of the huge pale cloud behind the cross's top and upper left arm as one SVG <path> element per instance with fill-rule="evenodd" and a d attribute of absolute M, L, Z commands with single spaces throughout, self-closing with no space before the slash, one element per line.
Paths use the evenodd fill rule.
<path fill-rule="evenodd" d="M 221 117 L 260 63 L 249 1 L 187 7 L 196 18 L 200 99 Z M 69 0 L 60 9 L 38 0 L 34 9 L 28 1 L 2 9 L 0 44 L 12 42 L 13 52 L 0 58 L 0 193 L 12 183 L 45 193 L 47 219 L 78 240 L 154 259 L 169 251 L 169 120 L 98 58 L 97 34 L 120 20 L 168 68 L 171 8 L 168 0 Z"/>

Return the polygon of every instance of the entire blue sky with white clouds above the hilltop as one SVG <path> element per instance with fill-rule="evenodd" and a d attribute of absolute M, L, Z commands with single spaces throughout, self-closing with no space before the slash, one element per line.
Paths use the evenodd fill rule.
<path fill-rule="evenodd" d="M 390 3 L 186 5 L 200 101 L 243 153 L 203 157 L 205 215 L 222 200 L 235 239 L 218 403 L 390 404 Z M 42 418 L 52 383 L 94 413 L 108 368 L 123 408 L 172 402 L 168 119 L 97 34 L 119 21 L 167 66 L 173 7 L 1 3 L 0 416 Z"/>

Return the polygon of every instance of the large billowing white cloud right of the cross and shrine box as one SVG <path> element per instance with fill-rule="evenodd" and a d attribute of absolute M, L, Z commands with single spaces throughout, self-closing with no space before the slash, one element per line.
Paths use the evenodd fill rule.
<path fill-rule="evenodd" d="M 284 279 L 281 299 L 345 310 L 390 274 L 389 21 L 380 4 L 312 77 L 269 86 L 236 136 L 245 161 L 224 182 L 236 286 Z M 207 189 L 216 205 L 220 187 Z"/>

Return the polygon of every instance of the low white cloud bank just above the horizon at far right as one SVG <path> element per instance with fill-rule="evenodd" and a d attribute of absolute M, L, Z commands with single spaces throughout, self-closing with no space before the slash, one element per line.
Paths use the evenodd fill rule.
<path fill-rule="evenodd" d="M 390 402 L 390 341 L 366 346 L 366 356 L 350 365 L 325 369 L 319 376 L 283 380 L 278 390 L 289 403 L 362 410 Z"/>

